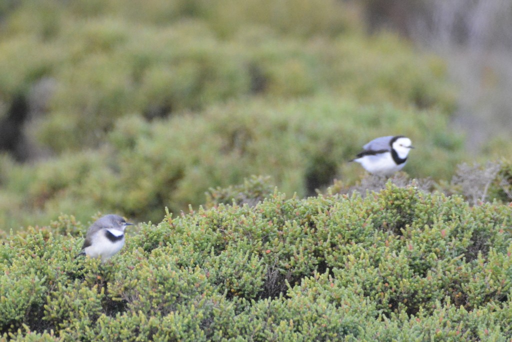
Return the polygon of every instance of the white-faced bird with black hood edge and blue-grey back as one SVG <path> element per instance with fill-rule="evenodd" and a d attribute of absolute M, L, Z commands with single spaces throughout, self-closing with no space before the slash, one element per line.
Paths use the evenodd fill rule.
<path fill-rule="evenodd" d="M 370 173 L 389 176 L 406 165 L 407 155 L 414 148 L 411 144 L 411 139 L 403 135 L 381 136 L 363 146 L 364 150 L 350 162 L 361 164 Z"/>

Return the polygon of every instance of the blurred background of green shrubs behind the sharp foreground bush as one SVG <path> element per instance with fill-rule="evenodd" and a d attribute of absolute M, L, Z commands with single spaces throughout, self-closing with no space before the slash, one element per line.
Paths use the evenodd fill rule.
<path fill-rule="evenodd" d="M 0 230 L 159 222 L 251 175 L 312 195 L 357 182 L 347 160 L 381 135 L 411 137 L 411 177 L 510 157 L 489 28 L 509 24 L 486 10 L 475 38 L 427 1 L 5 0 Z"/>

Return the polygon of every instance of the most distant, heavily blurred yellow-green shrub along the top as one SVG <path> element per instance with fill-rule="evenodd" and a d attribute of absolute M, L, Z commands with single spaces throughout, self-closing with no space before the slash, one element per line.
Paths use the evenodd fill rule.
<path fill-rule="evenodd" d="M 25 132 L 57 154 L 101 146 L 121 117 L 154 119 L 252 95 L 327 91 L 453 110 L 442 61 L 391 35 L 350 29 L 347 5 L 151 3 L 23 1 L 0 31 L 0 117 L 15 98 L 31 103 L 41 78 L 56 86 L 38 113 L 46 115 L 27 120 Z"/>

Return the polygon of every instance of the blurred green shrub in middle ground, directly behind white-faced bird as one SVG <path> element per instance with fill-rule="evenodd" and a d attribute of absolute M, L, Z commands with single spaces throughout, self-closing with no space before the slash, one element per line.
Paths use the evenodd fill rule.
<path fill-rule="evenodd" d="M 374 120 L 382 122 L 365 124 Z M 164 207 L 179 212 L 189 204 L 209 203 L 208 189 L 241 184 L 253 174 L 267 175 L 267 184 L 303 197 L 325 189 L 334 178 L 352 184 L 365 171 L 347 160 L 372 137 L 397 129 L 396 120 L 400 132 L 422 146 L 411 153 L 405 170 L 434 179 L 454 171 L 454 160 L 462 158 L 461 139 L 450 137 L 451 150 L 439 145 L 436 136 L 446 135 L 446 118 L 439 113 L 360 106 L 331 96 L 239 100 L 151 123 L 124 117 L 98 151 L 11 166 L 2 176 L 3 187 L 20 197 L 23 210 L 4 206 L 27 224 L 31 217 L 50 222 L 62 212 L 85 220 L 98 211 L 156 222 Z M 261 187 L 255 202 L 269 193 L 268 185 Z M 219 203 L 231 203 L 229 196 L 237 199 L 234 190 L 227 189 Z"/>

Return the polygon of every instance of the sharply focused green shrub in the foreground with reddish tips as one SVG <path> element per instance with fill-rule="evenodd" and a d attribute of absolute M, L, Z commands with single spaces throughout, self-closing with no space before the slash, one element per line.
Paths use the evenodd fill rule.
<path fill-rule="evenodd" d="M 502 340 L 511 215 L 391 182 L 364 198 L 275 192 L 167 212 L 106 264 L 74 259 L 82 237 L 63 232 L 86 227 L 62 216 L 0 244 L 0 329 L 23 340 Z"/>

